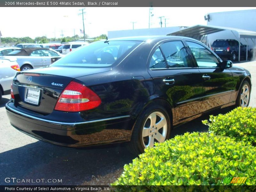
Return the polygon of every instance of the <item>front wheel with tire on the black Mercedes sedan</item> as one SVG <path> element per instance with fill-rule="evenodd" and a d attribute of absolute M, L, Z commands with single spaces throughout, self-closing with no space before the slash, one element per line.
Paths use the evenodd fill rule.
<path fill-rule="evenodd" d="M 248 81 L 244 81 L 238 91 L 236 107 L 248 107 L 250 102 L 251 87 Z"/>

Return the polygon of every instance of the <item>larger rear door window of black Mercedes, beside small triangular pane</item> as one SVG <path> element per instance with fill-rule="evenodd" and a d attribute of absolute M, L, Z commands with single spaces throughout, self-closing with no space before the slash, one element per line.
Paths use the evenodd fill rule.
<path fill-rule="evenodd" d="M 181 41 L 170 41 L 160 45 L 169 68 L 192 67 L 193 61 Z"/>

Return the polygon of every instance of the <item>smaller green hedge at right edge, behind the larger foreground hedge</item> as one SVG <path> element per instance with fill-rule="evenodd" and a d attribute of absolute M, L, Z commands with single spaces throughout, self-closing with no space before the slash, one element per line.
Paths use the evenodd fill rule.
<path fill-rule="evenodd" d="M 256 145 L 256 108 L 238 107 L 225 115 L 210 116 L 209 121 L 202 122 L 209 126 L 210 132 Z"/>

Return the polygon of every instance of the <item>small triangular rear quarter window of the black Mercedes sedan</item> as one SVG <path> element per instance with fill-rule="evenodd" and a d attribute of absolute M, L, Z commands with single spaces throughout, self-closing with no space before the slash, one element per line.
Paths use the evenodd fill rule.
<path fill-rule="evenodd" d="M 164 55 L 161 52 L 159 47 L 156 49 L 156 51 L 152 55 L 152 58 L 151 58 L 150 64 L 149 64 L 149 68 L 150 69 L 167 68 L 166 62 L 164 60 Z"/>

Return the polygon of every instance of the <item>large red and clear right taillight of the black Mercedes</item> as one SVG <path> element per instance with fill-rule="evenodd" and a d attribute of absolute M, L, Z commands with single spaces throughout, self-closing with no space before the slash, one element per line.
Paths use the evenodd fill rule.
<path fill-rule="evenodd" d="M 62 91 L 55 110 L 79 112 L 96 108 L 100 105 L 99 96 L 83 84 L 71 81 Z"/>

